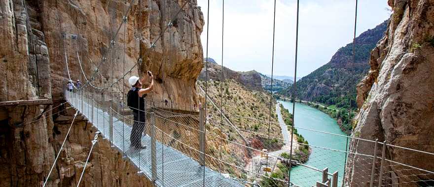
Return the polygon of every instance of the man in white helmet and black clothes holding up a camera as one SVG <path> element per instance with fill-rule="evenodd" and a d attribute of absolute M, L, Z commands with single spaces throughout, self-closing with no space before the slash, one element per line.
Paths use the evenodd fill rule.
<path fill-rule="evenodd" d="M 127 95 L 127 105 L 133 110 L 134 124 L 131 130 L 131 147 L 134 149 L 146 149 L 146 146 L 142 145 L 141 137 L 145 128 L 145 97 L 150 93 L 154 87 L 154 76 L 150 71 L 147 72 L 151 83 L 149 87 L 143 89 L 142 84 L 145 81 L 145 77 L 140 79 L 137 76 L 131 76 L 128 79 L 128 83 L 132 87 Z"/>

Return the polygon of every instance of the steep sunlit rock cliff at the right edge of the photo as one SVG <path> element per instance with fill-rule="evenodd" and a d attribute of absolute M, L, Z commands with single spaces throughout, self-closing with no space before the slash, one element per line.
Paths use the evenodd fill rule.
<path fill-rule="evenodd" d="M 386 36 L 370 57 L 370 70 L 357 86 L 360 113 L 353 134 L 360 138 L 434 152 L 434 1 L 389 0 L 393 8 Z M 381 146 L 380 146 L 381 147 Z M 373 144 L 352 141 L 350 151 L 370 154 Z M 381 153 L 381 150 L 377 150 Z M 434 170 L 433 156 L 388 147 L 386 157 L 415 167 Z M 361 156 L 350 155 L 346 167 L 353 186 L 369 176 L 371 167 L 357 164 Z M 392 164 L 393 165 L 393 164 Z M 426 180 L 429 176 L 412 176 L 402 168 L 388 166 L 384 183 L 395 180 Z M 369 171 L 370 172 L 370 171 Z M 378 172 L 378 171 L 377 171 Z M 402 177 L 408 175 L 408 177 Z M 398 176 L 398 178 L 394 178 Z M 365 181 L 366 182 L 366 181 Z M 423 184 L 419 184 L 423 185 Z"/>

